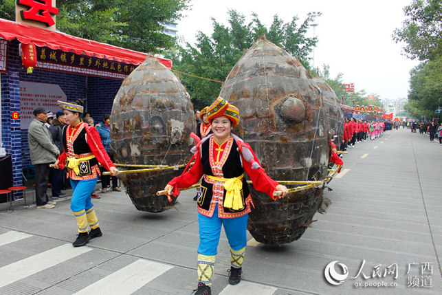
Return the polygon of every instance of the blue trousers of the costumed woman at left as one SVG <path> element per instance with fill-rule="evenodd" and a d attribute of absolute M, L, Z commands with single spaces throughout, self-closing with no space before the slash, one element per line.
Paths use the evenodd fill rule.
<path fill-rule="evenodd" d="M 92 208 L 91 193 L 98 182 L 98 178 L 89 180 L 69 180 L 71 181 L 72 190 L 74 190 L 71 199 L 71 210 L 78 212 L 83 209 L 87 211 Z"/>

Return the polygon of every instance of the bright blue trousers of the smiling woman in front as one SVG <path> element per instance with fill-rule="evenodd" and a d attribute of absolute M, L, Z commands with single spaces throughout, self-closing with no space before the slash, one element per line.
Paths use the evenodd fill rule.
<path fill-rule="evenodd" d="M 198 213 L 199 245 L 197 252 L 203 255 L 216 255 L 218 252 L 221 226 L 233 250 L 240 250 L 247 245 L 247 220 L 249 215 L 235 218 L 219 218 L 218 208 L 212 217 Z"/>

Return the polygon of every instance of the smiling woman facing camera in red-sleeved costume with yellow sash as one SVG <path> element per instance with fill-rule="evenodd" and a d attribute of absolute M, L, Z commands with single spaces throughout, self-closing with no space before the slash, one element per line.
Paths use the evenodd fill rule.
<path fill-rule="evenodd" d="M 241 281 L 250 196 L 244 172 L 250 176 L 256 190 L 272 199 L 285 197 L 288 190 L 265 173 L 248 144 L 230 133 L 239 123 L 239 110 L 219 97 L 208 107 L 208 121 L 213 134 L 203 138 L 192 149 L 195 164 L 189 171 L 175 177 L 164 188 L 177 196 L 179 188 L 188 188 L 201 180 L 198 197 L 198 289 L 196 294 L 210 294 L 212 273 L 217 254 L 221 226 L 230 244 L 229 283 Z"/>

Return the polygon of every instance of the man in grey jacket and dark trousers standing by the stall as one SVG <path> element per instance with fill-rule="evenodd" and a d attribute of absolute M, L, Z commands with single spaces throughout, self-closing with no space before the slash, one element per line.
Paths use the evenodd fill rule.
<path fill-rule="evenodd" d="M 35 193 L 37 209 L 52 209 L 56 202 L 47 198 L 47 182 L 49 181 L 49 164 L 56 161 L 60 151 L 52 140 L 49 129 L 45 126 L 47 109 L 37 107 L 34 109 L 34 120 L 27 130 L 27 141 L 31 154 L 32 165 L 35 166 Z"/>

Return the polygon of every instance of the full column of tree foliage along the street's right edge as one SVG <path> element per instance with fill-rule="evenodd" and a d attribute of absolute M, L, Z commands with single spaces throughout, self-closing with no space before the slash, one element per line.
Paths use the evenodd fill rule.
<path fill-rule="evenodd" d="M 422 63 L 410 72 L 410 91 L 404 106 L 413 118 L 432 118 L 442 106 L 442 3 L 413 0 L 404 8 L 408 19 L 393 39 L 406 43 L 404 51 Z"/>

